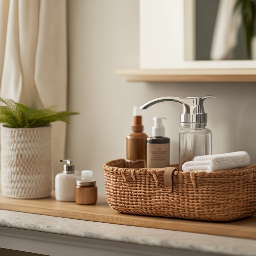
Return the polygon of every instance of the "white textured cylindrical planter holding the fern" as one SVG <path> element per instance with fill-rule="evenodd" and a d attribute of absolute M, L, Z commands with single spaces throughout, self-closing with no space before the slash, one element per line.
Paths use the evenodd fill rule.
<path fill-rule="evenodd" d="M 1 127 L 1 191 L 12 198 L 51 194 L 51 126 Z"/>

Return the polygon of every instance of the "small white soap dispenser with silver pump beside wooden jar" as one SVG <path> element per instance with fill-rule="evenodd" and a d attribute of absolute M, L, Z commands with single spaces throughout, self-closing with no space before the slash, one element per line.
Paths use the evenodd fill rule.
<path fill-rule="evenodd" d="M 74 170 L 75 166 L 72 165 L 72 160 L 60 161 L 67 162 L 67 164 L 63 164 L 63 171 L 55 177 L 55 198 L 58 201 L 75 202 L 76 178 L 79 172 Z"/>

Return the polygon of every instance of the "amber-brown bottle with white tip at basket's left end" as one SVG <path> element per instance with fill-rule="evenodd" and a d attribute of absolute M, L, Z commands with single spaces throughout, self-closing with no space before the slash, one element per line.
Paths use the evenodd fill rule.
<path fill-rule="evenodd" d="M 132 133 L 126 137 L 126 168 L 146 168 L 147 134 L 143 133 L 142 116 L 134 107 Z"/>

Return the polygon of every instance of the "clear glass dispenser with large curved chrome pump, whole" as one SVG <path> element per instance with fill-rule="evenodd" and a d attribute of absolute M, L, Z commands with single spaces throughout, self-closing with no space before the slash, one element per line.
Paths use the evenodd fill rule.
<path fill-rule="evenodd" d="M 207 113 L 204 112 L 204 97 L 161 97 L 147 102 L 140 109 L 162 101 L 175 101 L 182 104 L 183 113 L 180 115 L 181 128 L 179 130 L 179 169 L 187 161 L 192 161 L 195 156 L 210 155 L 212 152 L 211 131 L 206 127 Z"/>

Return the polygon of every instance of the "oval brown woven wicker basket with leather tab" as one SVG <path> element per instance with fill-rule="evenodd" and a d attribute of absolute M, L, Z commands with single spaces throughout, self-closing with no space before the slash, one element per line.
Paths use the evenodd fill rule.
<path fill-rule="evenodd" d="M 103 168 L 108 204 L 121 213 L 207 221 L 256 214 L 256 165 L 165 173 L 165 168 L 127 169 L 125 159 L 118 159 Z M 164 188 L 167 179 L 172 184 Z"/>

